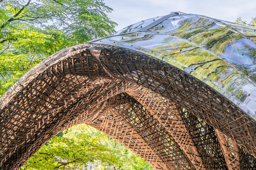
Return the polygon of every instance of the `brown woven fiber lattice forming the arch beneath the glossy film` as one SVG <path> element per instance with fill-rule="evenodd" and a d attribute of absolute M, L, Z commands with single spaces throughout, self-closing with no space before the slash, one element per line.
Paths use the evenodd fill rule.
<path fill-rule="evenodd" d="M 89 46 L 89 44 L 88 44 Z M 156 169 L 255 169 L 255 121 L 211 87 L 137 51 L 69 54 L 3 103 L 0 169 L 86 123 Z"/>

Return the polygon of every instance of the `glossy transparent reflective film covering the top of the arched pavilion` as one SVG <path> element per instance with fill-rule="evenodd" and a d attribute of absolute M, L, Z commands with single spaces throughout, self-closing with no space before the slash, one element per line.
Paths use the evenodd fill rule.
<path fill-rule="evenodd" d="M 149 20 L 153 19 L 145 21 Z M 90 42 L 125 47 L 161 59 L 207 83 L 256 119 L 254 27 L 183 13 L 144 32 L 128 30 L 130 27 L 134 25 L 117 32 L 126 34 Z"/>

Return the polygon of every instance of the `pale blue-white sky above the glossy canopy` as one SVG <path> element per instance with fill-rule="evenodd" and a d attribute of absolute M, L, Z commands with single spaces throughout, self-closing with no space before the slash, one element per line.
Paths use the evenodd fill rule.
<path fill-rule="evenodd" d="M 136 22 L 184 12 L 205 15 L 224 21 L 236 21 L 237 17 L 249 22 L 256 17 L 256 0 L 105 0 L 113 9 L 108 17 L 115 21 L 118 31 Z"/>

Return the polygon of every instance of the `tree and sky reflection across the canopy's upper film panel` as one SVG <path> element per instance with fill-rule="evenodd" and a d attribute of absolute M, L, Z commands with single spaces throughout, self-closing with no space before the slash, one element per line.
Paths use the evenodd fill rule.
<path fill-rule="evenodd" d="M 163 24 L 167 25 L 168 21 L 171 22 L 172 20 L 166 20 L 165 22 L 163 22 Z M 224 23 L 222 22 L 218 23 L 224 25 Z M 226 57 L 224 55 L 224 52 L 227 47 L 234 45 L 239 40 L 242 41 L 242 39 L 244 38 L 240 32 L 237 32 L 232 27 L 238 30 L 241 30 L 242 28 L 237 28 L 233 25 L 232 27 L 221 26 L 217 24 L 217 21 L 214 21 L 209 18 L 203 18 L 201 16 L 192 16 L 189 18 L 179 20 L 177 25 L 178 28 L 170 31 L 168 26 L 162 27 L 162 24 L 159 24 L 158 26 L 155 26 L 154 30 L 158 30 L 161 32 L 164 32 L 166 30 L 165 33 L 176 35 L 187 40 L 191 40 L 199 45 L 204 46 L 205 48 L 208 48 L 212 52 L 222 57 Z M 150 31 L 154 30 L 150 29 Z M 243 34 L 249 36 L 250 38 L 256 37 L 255 32 L 247 31 L 244 29 Z M 255 60 L 255 48 L 246 46 L 244 46 L 243 48 L 247 49 L 247 52 L 245 54 L 246 56 L 248 56 L 248 59 Z M 236 53 L 236 51 L 234 51 L 234 53 Z M 244 55 L 243 57 L 246 56 Z M 254 82 L 256 82 L 256 70 L 254 66 L 250 66 L 244 63 L 243 61 L 239 61 L 239 63 L 234 60 L 232 61 L 232 58 L 230 60 L 232 64 L 235 65 L 235 67 L 241 69 L 243 73 L 245 73 L 248 77 L 254 80 Z"/>

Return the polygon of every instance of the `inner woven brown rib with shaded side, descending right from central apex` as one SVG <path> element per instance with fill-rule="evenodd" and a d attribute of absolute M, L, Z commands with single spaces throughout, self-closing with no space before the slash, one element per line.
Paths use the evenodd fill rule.
<path fill-rule="evenodd" d="M 128 94 L 161 122 L 196 169 L 226 168 L 218 139 L 211 126 L 148 89 L 141 88 Z"/>

